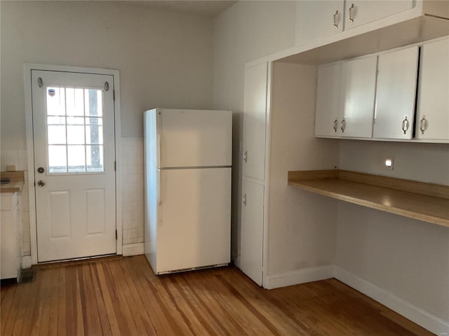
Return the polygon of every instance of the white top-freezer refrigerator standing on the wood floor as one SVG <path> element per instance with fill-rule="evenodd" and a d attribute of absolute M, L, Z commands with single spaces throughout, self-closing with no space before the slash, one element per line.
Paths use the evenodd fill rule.
<path fill-rule="evenodd" d="M 145 255 L 155 274 L 231 258 L 232 112 L 145 111 Z"/>

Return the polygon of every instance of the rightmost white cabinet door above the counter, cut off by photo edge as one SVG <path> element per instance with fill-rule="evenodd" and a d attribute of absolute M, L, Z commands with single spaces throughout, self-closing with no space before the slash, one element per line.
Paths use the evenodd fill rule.
<path fill-rule="evenodd" d="M 449 139 L 449 39 L 421 48 L 417 139 Z"/>

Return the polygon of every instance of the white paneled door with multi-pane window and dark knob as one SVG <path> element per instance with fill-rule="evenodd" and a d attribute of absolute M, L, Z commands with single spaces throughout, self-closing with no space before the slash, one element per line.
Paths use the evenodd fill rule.
<path fill-rule="evenodd" d="M 38 262 L 116 253 L 113 76 L 32 70 Z"/>

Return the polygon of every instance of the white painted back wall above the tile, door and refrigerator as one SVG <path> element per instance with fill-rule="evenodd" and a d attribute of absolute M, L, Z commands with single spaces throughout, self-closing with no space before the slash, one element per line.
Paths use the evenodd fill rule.
<path fill-rule="evenodd" d="M 117 1 L 1 1 L 1 146 L 25 149 L 23 63 L 119 69 L 121 134 L 142 111 L 213 105 L 213 20 Z"/>

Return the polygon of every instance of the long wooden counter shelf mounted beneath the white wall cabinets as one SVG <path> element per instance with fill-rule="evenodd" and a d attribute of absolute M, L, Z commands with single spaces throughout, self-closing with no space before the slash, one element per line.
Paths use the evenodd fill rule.
<path fill-rule="evenodd" d="M 449 228 L 449 186 L 344 170 L 288 172 L 288 185 Z"/>

